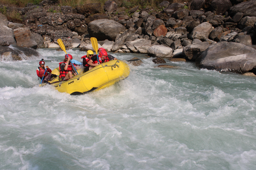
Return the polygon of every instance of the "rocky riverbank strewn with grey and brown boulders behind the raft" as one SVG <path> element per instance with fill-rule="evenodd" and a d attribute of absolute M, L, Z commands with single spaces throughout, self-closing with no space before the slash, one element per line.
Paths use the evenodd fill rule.
<path fill-rule="evenodd" d="M 199 68 L 256 73 L 256 0 L 242 1 L 163 1 L 162 10 L 128 10 L 108 0 L 102 11 L 100 3 L 72 8 L 45 0 L 12 9 L 22 16 L 20 23 L 0 15 L 0 54 L 12 55 L 6 53 L 10 44 L 59 47 L 59 38 L 66 47 L 93 50 L 89 38 L 95 37 L 108 51 L 145 53 L 154 62 L 183 58 Z"/>

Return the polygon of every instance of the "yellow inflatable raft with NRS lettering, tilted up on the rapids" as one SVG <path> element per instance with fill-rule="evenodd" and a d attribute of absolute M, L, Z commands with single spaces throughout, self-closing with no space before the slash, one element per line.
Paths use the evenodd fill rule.
<path fill-rule="evenodd" d="M 79 73 L 79 70 L 78 70 Z M 59 75 L 59 68 L 52 70 Z M 50 81 L 59 92 L 80 95 L 110 86 L 130 74 L 129 66 L 121 60 L 111 60 L 99 64 L 87 72 L 82 72 L 71 79 L 59 81 L 58 77 Z"/>

